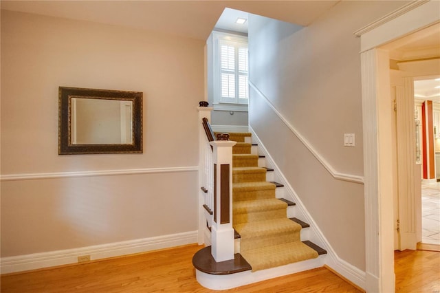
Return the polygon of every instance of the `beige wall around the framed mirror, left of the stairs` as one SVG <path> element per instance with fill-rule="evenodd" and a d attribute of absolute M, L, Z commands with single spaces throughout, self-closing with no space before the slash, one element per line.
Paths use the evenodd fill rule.
<path fill-rule="evenodd" d="M 2 175 L 184 170 L 3 181 L 1 257 L 197 230 L 203 45 L 2 10 Z M 142 91 L 144 153 L 58 155 L 59 86 Z"/>

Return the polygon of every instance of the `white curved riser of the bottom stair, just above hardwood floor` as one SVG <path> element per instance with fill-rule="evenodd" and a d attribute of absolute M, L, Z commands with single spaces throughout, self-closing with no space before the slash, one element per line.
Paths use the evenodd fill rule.
<path fill-rule="evenodd" d="M 211 290 L 227 290 L 234 287 L 273 279 L 278 276 L 285 276 L 287 274 L 320 268 L 325 263 L 325 257 L 325 254 L 323 254 L 316 259 L 308 259 L 307 261 L 300 261 L 298 263 L 289 263 L 288 265 L 282 265 L 267 270 L 259 270 L 256 272 L 245 271 L 236 274 L 206 274 L 205 272 L 196 269 L 195 276 L 197 281 L 203 287 Z"/>

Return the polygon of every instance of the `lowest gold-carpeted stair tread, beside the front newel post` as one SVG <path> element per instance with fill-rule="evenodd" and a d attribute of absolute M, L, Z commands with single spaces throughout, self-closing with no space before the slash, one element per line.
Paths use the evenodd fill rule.
<path fill-rule="evenodd" d="M 318 257 L 316 250 L 301 241 L 250 249 L 242 251 L 240 254 L 250 263 L 252 271 L 265 270 Z"/>

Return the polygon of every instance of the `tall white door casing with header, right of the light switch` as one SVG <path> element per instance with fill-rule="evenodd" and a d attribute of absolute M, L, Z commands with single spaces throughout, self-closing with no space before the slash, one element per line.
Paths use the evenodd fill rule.
<path fill-rule="evenodd" d="M 415 1 L 355 32 L 361 38 L 366 292 L 394 292 L 388 51 L 378 47 L 440 21 L 440 1 Z"/>

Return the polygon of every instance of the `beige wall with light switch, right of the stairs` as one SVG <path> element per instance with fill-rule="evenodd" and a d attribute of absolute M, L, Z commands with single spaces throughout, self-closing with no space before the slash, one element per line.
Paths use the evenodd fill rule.
<path fill-rule="evenodd" d="M 342 1 L 307 28 L 250 17 L 250 125 L 344 261 L 365 270 L 364 186 L 335 180 L 259 91 L 340 173 L 363 173 L 360 40 L 397 1 Z M 355 133 L 355 146 L 343 146 Z"/>

